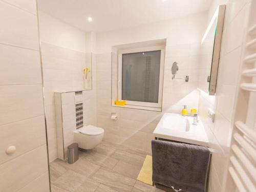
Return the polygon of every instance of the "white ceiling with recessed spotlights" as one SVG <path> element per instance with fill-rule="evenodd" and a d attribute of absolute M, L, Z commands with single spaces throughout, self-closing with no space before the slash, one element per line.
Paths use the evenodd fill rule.
<path fill-rule="evenodd" d="M 40 11 L 83 31 L 111 31 L 203 12 L 212 0 L 37 0 Z M 91 16 L 92 22 L 87 18 Z"/>

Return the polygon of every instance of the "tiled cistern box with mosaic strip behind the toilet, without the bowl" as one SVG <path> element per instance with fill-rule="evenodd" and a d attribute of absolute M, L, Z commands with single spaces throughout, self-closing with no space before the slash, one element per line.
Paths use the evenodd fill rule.
<path fill-rule="evenodd" d="M 79 116 L 76 114 L 76 106 L 82 105 L 83 91 L 54 93 L 55 121 L 58 158 L 68 158 L 68 146 L 74 143 L 74 131 L 77 128 L 77 120 L 82 125 L 82 110 Z"/>

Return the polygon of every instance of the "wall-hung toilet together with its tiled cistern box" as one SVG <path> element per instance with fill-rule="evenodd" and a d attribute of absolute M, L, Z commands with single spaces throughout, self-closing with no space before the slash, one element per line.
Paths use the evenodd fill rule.
<path fill-rule="evenodd" d="M 89 150 L 97 146 L 104 130 L 93 125 L 84 125 L 83 97 L 86 91 L 54 93 L 57 130 L 58 158 L 68 157 L 68 146 L 74 142 Z"/>

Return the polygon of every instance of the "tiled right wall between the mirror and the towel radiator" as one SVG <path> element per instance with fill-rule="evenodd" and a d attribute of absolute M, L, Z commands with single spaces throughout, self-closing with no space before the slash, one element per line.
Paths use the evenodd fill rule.
<path fill-rule="evenodd" d="M 241 46 L 243 44 L 245 15 L 248 1 L 214 1 L 209 10 L 210 20 L 218 5 L 226 4 L 225 23 L 221 45 L 221 56 L 216 96 L 200 93 L 199 114 L 209 137 L 213 150 L 210 189 L 211 192 L 234 191 L 233 184 L 226 183 L 229 144 L 232 132 L 234 100 L 238 89 L 238 75 L 241 65 Z M 216 112 L 215 123 L 207 117 L 208 108 Z"/>

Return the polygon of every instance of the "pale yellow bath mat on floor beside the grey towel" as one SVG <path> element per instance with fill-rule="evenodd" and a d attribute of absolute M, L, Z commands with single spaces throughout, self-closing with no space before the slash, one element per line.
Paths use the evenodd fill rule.
<path fill-rule="evenodd" d="M 146 183 L 148 185 L 152 185 L 152 156 L 147 155 L 143 166 L 140 169 L 140 173 L 137 177 L 138 181 Z"/>

